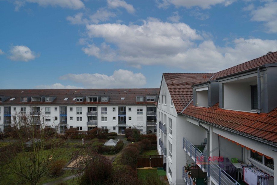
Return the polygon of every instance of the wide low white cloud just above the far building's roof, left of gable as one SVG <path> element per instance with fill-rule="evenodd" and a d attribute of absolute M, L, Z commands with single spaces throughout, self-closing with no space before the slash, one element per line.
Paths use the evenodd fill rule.
<path fill-rule="evenodd" d="M 142 73 L 133 73 L 123 69 L 114 71 L 111 76 L 98 73 L 66 74 L 61 76 L 60 79 L 82 83 L 88 88 L 140 87 L 146 84 L 146 78 Z"/>

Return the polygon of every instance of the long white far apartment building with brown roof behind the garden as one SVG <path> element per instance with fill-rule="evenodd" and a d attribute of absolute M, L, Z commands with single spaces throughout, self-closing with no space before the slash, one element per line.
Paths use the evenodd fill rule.
<path fill-rule="evenodd" d="M 142 133 L 156 132 L 159 89 L 14 89 L 0 90 L 0 128 L 11 126 L 17 113 L 29 114 L 36 125 L 59 133 L 69 128 L 95 127 L 124 134 L 136 127 Z"/>

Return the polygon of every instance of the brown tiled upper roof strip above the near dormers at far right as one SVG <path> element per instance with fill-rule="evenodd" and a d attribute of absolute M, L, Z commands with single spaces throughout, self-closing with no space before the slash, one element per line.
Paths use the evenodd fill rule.
<path fill-rule="evenodd" d="M 242 64 L 238 64 L 234 67 L 230 67 L 223 71 L 219 71 L 219 72 L 215 73 L 210 80 L 216 80 L 220 77 L 225 77 L 225 76 L 235 74 L 235 73 L 238 73 L 241 71 L 253 69 L 255 67 L 259 67 L 264 64 L 272 64 L 272 63 L 276 63 L 276 62 L 277 62 L 277 52 L 272 52 L 272 53 L 264 55 L 262 57 L 253 59 L 251 61 L 244 62 Z"/>

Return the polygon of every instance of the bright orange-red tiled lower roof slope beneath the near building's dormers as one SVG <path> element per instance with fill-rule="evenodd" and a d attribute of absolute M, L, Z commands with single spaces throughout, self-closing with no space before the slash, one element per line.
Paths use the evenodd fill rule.
<path fill-rule="evenodd" d="M 277 108 L 268 114 L 256 114 L 221 109 L 219 103 L 213 107 L 204 108 L 193 106 L 191 102 L 182 114 L 277 143 Z"/>

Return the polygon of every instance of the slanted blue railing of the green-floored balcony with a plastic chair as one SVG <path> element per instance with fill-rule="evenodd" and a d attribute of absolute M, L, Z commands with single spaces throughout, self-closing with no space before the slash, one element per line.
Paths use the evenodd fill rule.
<path fill-rule="evenodd" d="M 191 142 L 189 142 L 185 137 L 183 137 L 183 149 L 203 171 L 206 169 L 206 165 L 204 165 L 207 161 L 206 154 L 191 144 Z"/>

